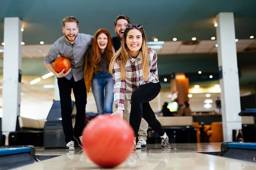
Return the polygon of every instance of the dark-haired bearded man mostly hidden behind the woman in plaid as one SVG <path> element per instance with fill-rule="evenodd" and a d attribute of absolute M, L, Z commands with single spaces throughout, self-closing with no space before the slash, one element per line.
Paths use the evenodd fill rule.
<path fill-rule="evenodd" d="M 116 20 L 114 21 L 114 25 L 115 25 L 115 32 L 116 32 L 116 37 L 112 37 L 112 42 L 113 42 L 113 46 L 115 51 L 118 51 L 120 49 L 121 46 L 121 41 L 125 32 L 125 27 L 127 24 L 131 24 L 131 20 L 127 15 L 118 15 Z M 123 113 L 123 118 L 125 120 L 127 120 L 129 122 L 129 118 L 130 118 L 130 113 L 128 111 L 128 100 L 125 97 L 125 101 L 124 101 L 124 105 L 125 105 L 125 111 Z M 140 123 L 140 128 L 138 131 L 138 142 L 136 147 L 138 149 L 145 149 L 147 146 L 147 129 L 148 129 L 148 124 L 147 121 L 145 121 L 145 119 L 141 119 L 141 123 Z"/>

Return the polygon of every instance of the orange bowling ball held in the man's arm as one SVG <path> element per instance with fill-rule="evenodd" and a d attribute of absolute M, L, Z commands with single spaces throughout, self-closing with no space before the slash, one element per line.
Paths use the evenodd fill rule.
<path fill-rule="evenodd" d="M 61 72 L 64 68 L 64 73 L 66 73 L 70 67 L 71 63 L 67 57 L 58 57 L 53 63 L 53 68 L 57 73 Z"/>

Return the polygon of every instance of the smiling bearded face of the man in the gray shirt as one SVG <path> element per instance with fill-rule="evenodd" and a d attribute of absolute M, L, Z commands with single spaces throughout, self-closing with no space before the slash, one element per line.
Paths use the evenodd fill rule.
<path fill-rule="evenodd" d="M 78 34 L 78 26 L 75 22 L 66 22 L 62 32 L 70 44 L 74 44 Z"/>

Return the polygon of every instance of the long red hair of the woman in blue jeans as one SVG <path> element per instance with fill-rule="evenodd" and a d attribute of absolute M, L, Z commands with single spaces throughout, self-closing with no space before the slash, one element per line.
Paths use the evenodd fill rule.
<path fill-rule="evenodd" d="M 94 40 L 93 40 L 93 45 L 92 45 L 91 63 L 95 63 L 94 73 L 97 73 L 101 68 L 101 52 L 100 52 L 99 46 L 97 44 L 97 38 L 101 33 L 104 33 L 108 37 L 108 44 L 104 51 L 104 62 L 106 63 L 106 71 L 109 70 L 109 63 L 110 63 L 111 58 L 113 57 L 113 49 L 112 49 L 113 47 L 112 47 L 111 35 L 110 35 L 109 31 L 106 29 L 99 29 L 94 35 Z"/>

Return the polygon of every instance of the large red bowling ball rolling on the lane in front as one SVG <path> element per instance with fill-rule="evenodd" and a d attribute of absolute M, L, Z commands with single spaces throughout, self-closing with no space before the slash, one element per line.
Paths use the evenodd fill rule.
<path fill-rule="evenodd" d="M 84 128 L 82 146 L 91 161 L 114 167 L 125 161 L 133 150 L 134 131 L 127 121 L 99 115 Z"/>

